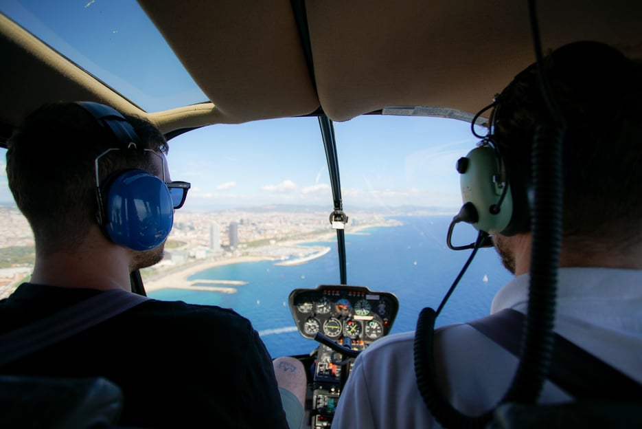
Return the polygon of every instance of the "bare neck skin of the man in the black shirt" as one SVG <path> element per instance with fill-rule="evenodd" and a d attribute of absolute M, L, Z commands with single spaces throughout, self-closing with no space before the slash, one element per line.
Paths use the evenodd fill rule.
<path fill-rule="evenodd" d="M 38 254 L 31 283 L 84 289 L 124 289 L 130 292 L 130 251 L 122 248 L 92 226 L 73 252 Z"/>

